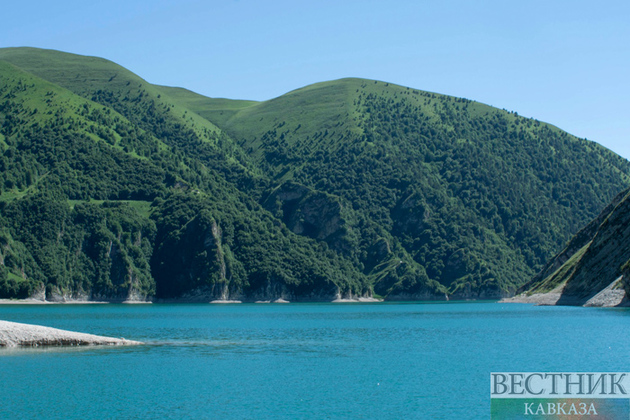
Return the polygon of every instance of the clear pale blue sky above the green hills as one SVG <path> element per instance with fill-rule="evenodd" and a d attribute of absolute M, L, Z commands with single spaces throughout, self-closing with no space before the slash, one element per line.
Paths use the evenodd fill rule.
<path fill-rule="evenodd" d="M 267 100 L 363 77 L 516 111 L 630 159 L 627 0 L 5 2 L 0 47 Z"/>

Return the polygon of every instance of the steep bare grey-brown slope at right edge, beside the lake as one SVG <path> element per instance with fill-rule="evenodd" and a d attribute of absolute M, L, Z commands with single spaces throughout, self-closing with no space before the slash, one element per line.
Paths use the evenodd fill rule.
<path fill-rule="evenodd" d="M 630 291 L 630 190 L 621 192 L 516 300 L 557 305 L 627 305 Z"/>

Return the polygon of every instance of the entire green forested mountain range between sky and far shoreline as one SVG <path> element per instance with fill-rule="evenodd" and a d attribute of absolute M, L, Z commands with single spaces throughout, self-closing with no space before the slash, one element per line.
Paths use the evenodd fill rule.
<path fill-rule="evenodd" d="M 380 81 L 236 101 L 32 48 L 0 77 L 5 296 L 497 298 L 630 186 L 594 142 Z"/>

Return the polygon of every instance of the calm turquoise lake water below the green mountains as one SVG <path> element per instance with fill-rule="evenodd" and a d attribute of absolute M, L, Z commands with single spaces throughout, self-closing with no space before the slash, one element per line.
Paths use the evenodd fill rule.
<path fill-rule="evenodd" d="M 630 370 L 630 310 L 522 304 L 6 305 L 141 340 L 0 351 L 2 419 L 484 419 L 492 371 Z"/>

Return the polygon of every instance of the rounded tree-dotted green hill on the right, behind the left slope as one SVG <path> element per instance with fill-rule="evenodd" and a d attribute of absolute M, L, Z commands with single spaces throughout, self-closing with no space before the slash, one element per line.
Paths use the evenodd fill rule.
<path fill-rule="evenodd" d="M 231 113 L 210 99 L 188 105 L 275 182 L 347 203 L 355 260 L 371 268 L 383 238 L 454 296 L 514 290 L 628 183 L 627 161 L 596 143 L 383 82 L 319 83 Z M 375 287 L 391 294 L 389 283 Z"/>

